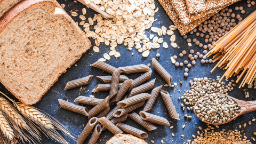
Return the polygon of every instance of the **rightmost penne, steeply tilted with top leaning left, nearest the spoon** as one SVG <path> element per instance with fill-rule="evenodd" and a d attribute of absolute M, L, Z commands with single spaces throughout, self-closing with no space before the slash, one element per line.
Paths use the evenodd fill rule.
<path fill-rule="evenodd" d="M 168 92 L 164 91 L 164 90 L 161 90 L 161 95 L 162 95 L 162 98 L 164 100 L 164 104 L 165 104 L 165 106 L 168 110 L 168 113 L 169 113 L 170 117 L 180 120 L 179 114 L 177 113 L 177 111 L 176 111 L 176 109 L 173 105 L 170 94 Z"/>

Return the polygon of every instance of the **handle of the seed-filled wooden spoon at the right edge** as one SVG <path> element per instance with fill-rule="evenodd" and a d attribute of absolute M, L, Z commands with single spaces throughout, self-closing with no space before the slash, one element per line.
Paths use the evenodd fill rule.
<path fill-rule="evenodd" d="M 256 110 L 256 101 L 240 101 L 239 105 L 241 105 L 241 114 L 246 114 L 251 111 Z"/>

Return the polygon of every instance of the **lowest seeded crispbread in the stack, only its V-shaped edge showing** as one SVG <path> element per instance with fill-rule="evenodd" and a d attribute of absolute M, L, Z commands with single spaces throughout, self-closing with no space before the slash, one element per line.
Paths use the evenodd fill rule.
<path fill-rule="evenodd" d="M 173 21 L 174 25 L 178 28 L 182 36 L 187 34 L 189 31 L 193 30 L 197 26 L 199 26 L 205 20 L 212 17 L 212 15 L 214 15 L 215 13 L 218 13 L 221 9 L 226 7 L 226 6 L 219 7 L 219 9 L 215 9 L 213 13 L 207 14 L 205 17 L 201 19 L 192 21 L 190 23 L 182 23 L 172 3 L 169 0 L 158 0 L 158 1 L 163 6 L 165 12 L 169 15 L 170 19 Z"/>

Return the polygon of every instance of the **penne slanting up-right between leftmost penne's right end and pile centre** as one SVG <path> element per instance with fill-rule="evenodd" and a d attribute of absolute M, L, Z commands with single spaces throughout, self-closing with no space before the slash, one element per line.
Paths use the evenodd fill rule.
<path fill-rule="evenodd" d="M 109 107 L 109 96 L 102 100 L 97 106 L 93 107 L 89 111 L 89 119 L 97 114 L 99 114 L 102 110 Z"/>

